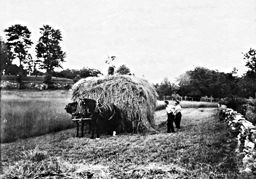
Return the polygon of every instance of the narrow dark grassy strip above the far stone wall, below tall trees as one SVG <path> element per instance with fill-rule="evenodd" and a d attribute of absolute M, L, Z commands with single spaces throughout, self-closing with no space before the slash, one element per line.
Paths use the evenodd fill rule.
<path fill-rule="evenodd" d="M 15 76 L 14 75 L 1 75 L 1 80 L 3 81 L 15 81 Z M 22 78 L 23 81 L 28 81 L 28 82 L 42 82 L 44 81 L 44 76 L 26 76 Z M 52 81 L 58 81 L 58 82 L 73 82 L 72 79 L 68 78 L 56 78 L 52 77 Z"/>

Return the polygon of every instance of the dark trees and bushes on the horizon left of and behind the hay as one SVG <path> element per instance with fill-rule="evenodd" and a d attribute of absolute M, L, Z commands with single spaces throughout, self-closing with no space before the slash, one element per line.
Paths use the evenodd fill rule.
<path fill-rule="evenodd" d="M 60 47 L 62 41 L 61 31 L 55 30 L 49 25 L 44 25 L 40 30 L 40 38 L 35 47 L 37 59 L 32 59 L 29 49 L 33 42 L 31 41 L 31 32 L 27 26 L 14 25 L 5 29 L 7 42 L 0 37 L 0 58 L 1 74 L 15 75 L 17 82 L 22 84 L 22 77 L 30 75 L 45 76 L 45 83 L 51 84 L 52 77 L 69 78 L 74 81 L 80 78 L 87 78 L 102 75 L 99 70 L 85 68 L 81 70 L 62 70 L 62 63 L 66 62 L 66 52 Z M 13 60 L 19 60 L 19 66 L 13 64 Z M 37 69 L 38 68 L 38 69 Z M 45 70 L 46 73 L 39 70 Z M 125 64 L 117 69 L 119 74 L 130 74 L 130 69 Z"/>

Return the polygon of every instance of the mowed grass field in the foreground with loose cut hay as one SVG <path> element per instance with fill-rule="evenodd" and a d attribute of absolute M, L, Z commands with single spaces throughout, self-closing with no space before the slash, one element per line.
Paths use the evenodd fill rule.
<path fill-rule="evenodd" d="M 156 111 L 156 124 L 165 121 Z M 175 128 L 176 129 L 176 128 Z M 185 108 L 181 129 L 75 138 L 76 129 L 1 144 L 1 178 L 243 178 L 217 108 Z"/>

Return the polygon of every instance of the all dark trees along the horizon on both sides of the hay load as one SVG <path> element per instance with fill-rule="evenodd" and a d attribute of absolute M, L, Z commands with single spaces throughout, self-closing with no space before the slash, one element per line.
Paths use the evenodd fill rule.
<path fill-rule="evenodd" d="M 1 74 L 16 75 L 17 81 L 22 83 L 22 77 L 31 72 L 31 75 L 44 75 L 45 83 L 50 84 L 52 76 L 69 78 L 74 81 L 80 78 L 100 76 L 102 73 L 96 69 L 83 67 L 81 70 L 62 70 L 62 63 L 66 62 L 66 52 L 60 47 L 62 41 L 61 31 L 49 25 L 39 28 L 41 36 L 35 47 L 36 58 L 32 59 L 29 49 L 33 42 L 30 40 L 31 32 L 26 26 L 14 25 L 5 29 L 7 41 L 0 37 Z M 241 98 L 254 97 L 256 93 L 256 51 L 250 49 L 244 54 L 247 60 L 248 71 L 238 76 L 238 70 L 233 68 L 230 73 L 209 70 L 197 66 L 194 70 L 186 71 L 176 78 L 176 83 L 170 83 L 165 77 L 159 84 L 154 84 L 159 95 L 181 97 L 212 97 L 229 98 L 233 104 Z M 19 66 L 13 64 L 14 59 L 19 59 Z M 37 69 L 38 68 L 38 69 Z M 39 70 L 45 70 L 42 73 Z M 125 64 L 117 69 L 119 74 L 130 74 L 130 69 Z M 134 75 L 134 74 L 133 74 Z"/>

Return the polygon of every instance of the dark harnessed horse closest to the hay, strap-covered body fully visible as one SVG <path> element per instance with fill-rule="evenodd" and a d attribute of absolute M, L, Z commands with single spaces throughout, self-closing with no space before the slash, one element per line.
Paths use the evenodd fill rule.
<path fill-rule="evenodd" d="M 92 100 L 92 99 L 91 99 Z M 82 100 L 81 108 L 84 108 L 83 110 L 87 111 L 88 108 L 94 108 L 93 113 L 91 114 L 90 118 L 92 119 L 92 136 L 91 139 L 94 139 L 94 130 L 96 129 L 96 138 L 100 137 L 100 127 L 103 124 L 104 127 L 108 127 L 110 129 L 110 132 L 113 132 L 116 130 L 115 126 L 117 125 L 117 108 L 115 104 L 111 102 L 107 103 L 98 103 L 95 100 L 92 100 L 93 102 L 89 103 L 87 100 Z"/>

